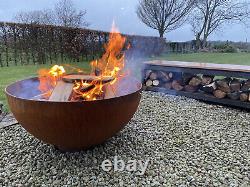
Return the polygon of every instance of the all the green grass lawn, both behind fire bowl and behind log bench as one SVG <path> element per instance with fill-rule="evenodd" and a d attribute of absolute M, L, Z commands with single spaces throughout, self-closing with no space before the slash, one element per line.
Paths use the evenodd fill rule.
<path fill-rule="evenodd" d="M 192 54 L 164 54 L 154 59 L 161 60 L 176 60 L 176 61 L 190 61 L 190 62 L 208 62 L 221 64 L 242 64 L 250 65 L 250 53 L 192 53 Z M 72 66 L 85 68 L 89 70 L 87 62 L 70 63 Z M 4 109 L 8 110 L 6 97 L 4 93 L 5 87 L 17 80 L 36 76 L 37 71 L 42 68 L 49 68 L 51 64 L 47 65 L 24 65 L 24 66 L 10 66 L 0 67 L 0 102 L 4 103 Z"/>

